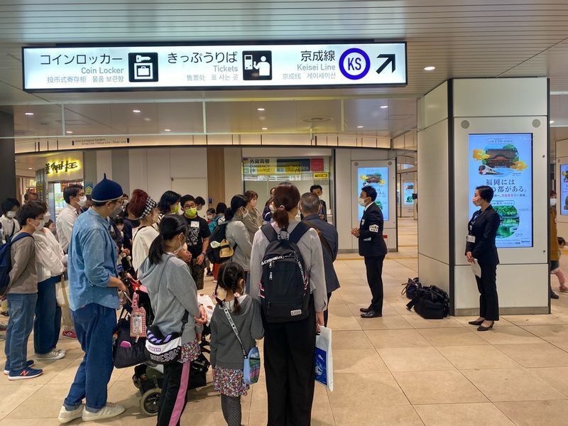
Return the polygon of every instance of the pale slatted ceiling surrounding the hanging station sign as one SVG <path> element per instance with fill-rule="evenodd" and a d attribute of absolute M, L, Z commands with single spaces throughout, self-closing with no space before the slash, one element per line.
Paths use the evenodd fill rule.
<path fill-rule="evenodd" d="M 21 45 L 312 39 L 406 40 L 408 86 L 72 94 L 28 94 L 21 90 Z M 437 69 L 425 72 L 423 68 L 427 65 L 434 65 Z M 567 69 L 566 0 L 4 0 L 0 4 L 0 105 L 107 103 L 99 108 L 98 113 L 96 108 L 88 110 L 89 114 L 95 114 L 87 114 L 87 119 L 91 121 L 100 121 L 97 114 L 109 114 L 109 102 L 135 104 L 137 101 L 182 99 L 253 101 L 343 97 L 359 101 L 368 98 L 368 102 L 377 104 L 389 98 L 416 99 L 452 77 L 547 75 L 550 76 L 553 92 L 568 93 Z M 325 104 L 322 111 L 334 109 L 334 104 Z M 207 105 L 213 108 L 214 104 Z M 219 105 L 215 108 L 219 108 Z M 231 102 L 224 106 L 227 114 L 231 111 L 231 114 L 234 113 Z M 70 114 L 74 114 L 71 112 L 72 106 L 68 105 L 67 108 Z M 77 114 L 82 114 L 81 111 L 86 108 L 78 107 L 80 111 L 76 111 Z M 301 107 L 295 108 L 294 114 L 288 117 L 288 124 L 298 117 L 301 119 L 303 112 L 298 112 L 298 108 Z M 242 117 L 249 112 L 244 109 L 239 114 Z M 316 109 L 310 114 L 324 112 Z M 376 119 L 372 114 L 373 105 L 367 109 L 364 104 L 354 102 L 352 108 L 345 109 L 345 124 L 361 125 L 356 123 L 366 116 Z M 401 116 L 405 114 L 409 114 L 408 111 L 400 112 Z M 234 124 L 233 119 L 233 123 L 229 123 L 227 117 L 221 115 L 219 126 L 229 126 L 231 129 L 235 126 L 253 126 L 252 121 L 251 124 Z M 207 116 L 212 117 L 211 114 Z M 114 116 L 114 111 L 111 112 L 111 118 L 115 122 L 121 121 Z M 209 123 L 214 125 L 217 121 L 210 119 Z M 383 129 L 384 120 L 378 120 L 378 123 L 373 130 Z M 386 123 L 391 135 L 399 130 L 391 127 L 395 126 L 397 120 L 390 119 Z M 162 124 L 155 124 L 155 128 L 160 129 Z"/>

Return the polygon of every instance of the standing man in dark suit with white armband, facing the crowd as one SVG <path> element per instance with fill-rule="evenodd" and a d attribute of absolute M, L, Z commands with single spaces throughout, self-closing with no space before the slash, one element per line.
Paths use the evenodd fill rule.
<path fill-rule="evenodd" d="M 359 239 L 359 255 L 365 258 L 367 282 L 371 288 L 373 299 L 369 307 L 361 307 L 362 318 L 383 316 L 383 261 L 387 253 L 383 239 L 383 212 L 375 204 L 377 192 L 375 188 L 366 186 L 361 190 L 359 204 L 365 207 L 361 225 L 351 229 L 351 234 Z"/>

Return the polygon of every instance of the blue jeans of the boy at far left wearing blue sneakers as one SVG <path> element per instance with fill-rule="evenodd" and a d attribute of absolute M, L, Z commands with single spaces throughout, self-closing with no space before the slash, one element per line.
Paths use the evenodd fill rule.
<path fill-rule="evenodd" d="M 26 366 L 28 359 L 28 337 L 33 328 L 33 314 L 38 293 L 27 295 L 9 293 L 6 298 L 10 312 L 4 347 L 6 367 L 9 367 L 13 373 L 19 373 Z"/>

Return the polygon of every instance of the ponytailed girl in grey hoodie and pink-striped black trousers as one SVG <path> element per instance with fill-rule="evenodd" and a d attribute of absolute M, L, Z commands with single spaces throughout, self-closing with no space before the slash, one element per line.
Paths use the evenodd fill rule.
<path fill-rule="evenodd" d="M 148 258 L 139 270 L 155 315 L 153 325 L 164 335 L 180 332 L 182 318 L 186 311 L 189 313 L 182 334 L 182 359 L 164 366 L 158 426 L 169 426 L 180 424 L 190 384 L 190 362 L 201 353 L 201 324 L 207 321 L 207 314 L 197 302 L 197 288 L 190 268 L 175 256 L 185 244 L 187 225 L 180 217 L 169 215 L 163 217 L 159 229 L 160 235 L 153 241 Z"/>

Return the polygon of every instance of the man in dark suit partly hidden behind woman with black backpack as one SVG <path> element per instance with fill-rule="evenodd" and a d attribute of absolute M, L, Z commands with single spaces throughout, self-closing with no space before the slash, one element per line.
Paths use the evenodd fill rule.
<path fill-rule="evenodd" d="M 327 312 L 329 312 L 329 298 L 332 291 L 339 288 L 339 280 L 333 267 L 339 249 L 339 236 L 335 226 L 324 222 L 320 217 L 320 197 L 313 192 L 306 192 L 300 198 L 300 211 L 303 221 L 317 231 L 322 243 L 324 254 L 325 283 L 327 285 L 327 310 L 324 311 L 324 325 L 327 327 Z"/>

